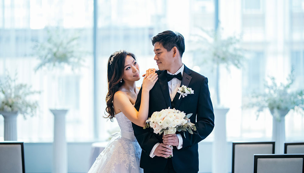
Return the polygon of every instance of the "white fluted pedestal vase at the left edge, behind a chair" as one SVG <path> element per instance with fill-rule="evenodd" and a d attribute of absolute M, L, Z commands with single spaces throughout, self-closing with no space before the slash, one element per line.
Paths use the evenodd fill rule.
<path fill-rule="evenodd" d="M 4 141 L 17 141 L 17 116 L 18 112 L 0 111 L 4 117 Z"/>

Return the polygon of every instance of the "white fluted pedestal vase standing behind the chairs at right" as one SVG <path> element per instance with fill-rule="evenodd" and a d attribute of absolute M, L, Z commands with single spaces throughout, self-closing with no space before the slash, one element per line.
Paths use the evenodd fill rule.
<path fill-rule="evenodd" d="M 284 154 L 284 142 L 285 142 L 285 115 L 289 110 L 280 110 L 278 114 L 280 119 L 275 118 L 274 111 L 270 111 L 272 114 L 272 140 L 275 141 L 275 154 Z"/>

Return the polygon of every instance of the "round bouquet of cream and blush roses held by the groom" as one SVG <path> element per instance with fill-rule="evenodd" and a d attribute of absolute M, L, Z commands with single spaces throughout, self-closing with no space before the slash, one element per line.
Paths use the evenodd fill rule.
<path fill-rule="evenodd" d="M 185 114 L 176 109 L 163 109 L 160 112 L 154 112 L 151 117 L 146 121 L 147 125 L 143 127 L 151 127 L 156 134 L 175 134 L 176 131 L 188 131 L 193 134 L 196 131 L 196 127 L 190 122 L 192 114 Z M 192 131 L 193 130 L 193 131 Z M 184 132 L 185 136 L 185 132 Z M 185 136 L 186 137 L 186 136 Z M 170 146 L 172 148 L 172 146 Z M 171 157 L 171 156 L 170 156 Z"/>

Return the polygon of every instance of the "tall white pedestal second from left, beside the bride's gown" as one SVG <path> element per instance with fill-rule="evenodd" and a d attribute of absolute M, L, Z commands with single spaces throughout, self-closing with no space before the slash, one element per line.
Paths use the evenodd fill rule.
<path fill-rule="evenodd" d="M 53 173 L 67 173 L 66 109 L 50 109 L 54 114 Z"/>

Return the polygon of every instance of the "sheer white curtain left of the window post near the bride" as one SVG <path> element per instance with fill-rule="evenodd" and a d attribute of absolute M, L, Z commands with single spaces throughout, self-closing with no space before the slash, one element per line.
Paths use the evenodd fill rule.
<path fill-rule="evenodd" d="M 80 33 L 81 47 L 92 52 L 92 1 L 41 1 L 3 0 L 0 2 L 0 76 L 17 73 L 17 83 L 31 85 L 40 90 L 36 97 L 39 111 L 34 117 L 17 118 L 18 140 L 52 141 L 54 107 L 58 95 L 54 86 L 60 87 L 60 103 L 68 107 L 66 135 L 68 141 L 92 140 L 93 73 L 92 56 L 85 58 L 85 66 L 77 71 L 64 68 L 60 76 L 56 70 L 34 68 L 39 61 L 33 51 L 35 43 L 46 41 L 47 29 L 61 28 Z M 50 29 L 52 30 L 52 29 Z M 62 38 L 63 39 L 63 38 Z M 0 138 L 3 138 L 3 117 L 0 117 Z"/>

